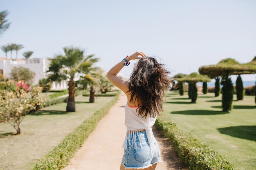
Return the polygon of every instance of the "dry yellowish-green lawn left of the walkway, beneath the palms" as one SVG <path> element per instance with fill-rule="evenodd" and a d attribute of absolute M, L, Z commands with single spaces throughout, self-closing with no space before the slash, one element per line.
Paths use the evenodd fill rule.
<path fill-rule="evenodd" d="M 1 123 L 0 170 L 31 170 L 38 159 L 113 98 L 97 97 L 94 103 L 89 103 L 89 97 L 77 96 L 73 113 L 65 112 L 66 103 L 38 110 L 22 121 L 22 135 L 8 135 L 15 133 L 14 128 Z"/>

